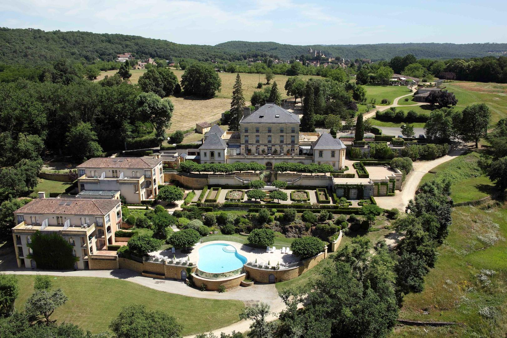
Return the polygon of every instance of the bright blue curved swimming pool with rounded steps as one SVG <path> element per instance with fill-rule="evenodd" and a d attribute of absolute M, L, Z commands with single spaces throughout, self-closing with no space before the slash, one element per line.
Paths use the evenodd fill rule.
<path fill-rule="evenodd" d="M 197 274 L 206 278 L 223 278 L 241 273 L 247 259 L 225 243 L 208 244 L 199 249 Z M 239 270 L 239 271 L 238 271 Z M 233 274 L 228 274 L 234 272 Z"/>

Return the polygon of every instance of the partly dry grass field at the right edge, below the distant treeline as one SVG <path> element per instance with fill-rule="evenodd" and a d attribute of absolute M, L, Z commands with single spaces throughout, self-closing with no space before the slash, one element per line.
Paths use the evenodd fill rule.
<path fill-rule="evenodd" d="M 507 116 L 507 85 L 457 81 L 444 83 L 458 99 L 456 109 L 474 103 L 486 103 L 491 109 L 491 125 Z"/>

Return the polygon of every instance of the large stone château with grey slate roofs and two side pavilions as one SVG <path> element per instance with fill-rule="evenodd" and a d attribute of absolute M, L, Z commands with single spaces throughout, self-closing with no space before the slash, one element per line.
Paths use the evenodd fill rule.
<path fill-rule="evenodd" d="M 345 145 L 329 133 L 300 133 L 300 118 L 282 107 L 268 103 L 247 107 L 239 132 L 224 132 L 212 126 L 199 148 L 200 163 L 258 162 L 269 170 L 275 163 L 297 162 L 332 165 L 340 170 Z"/>

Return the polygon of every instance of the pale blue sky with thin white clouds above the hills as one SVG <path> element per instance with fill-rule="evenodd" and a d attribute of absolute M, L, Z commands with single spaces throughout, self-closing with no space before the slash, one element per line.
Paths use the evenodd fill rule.
<path fill-rule="evenodd" d="M 0 7 L 0 26 L 199 45 L 507 43 L 506 14 L 505 0 L 15 0 Z"/>

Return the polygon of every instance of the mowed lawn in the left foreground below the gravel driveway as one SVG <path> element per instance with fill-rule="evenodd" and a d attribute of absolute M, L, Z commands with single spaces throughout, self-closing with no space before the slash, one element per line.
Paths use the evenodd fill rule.
<path fill-rule="evenodd" d="M 34 276 L 18 275 L 17 278 L 20 290 L 15 307 L 21 311 L 33 292 Z M 107 331 L 122 307 L 134 303 L 176 317 L 184 325 L 183 335 L 209 332 L 237 322 L 244 308 L 240 301 L 188 297 L 112 278 L 51 278 L 53 288 L 62 288 L 69 298 L 51 318 L 59 324 L 74 323 L 92 333 Z"/>

